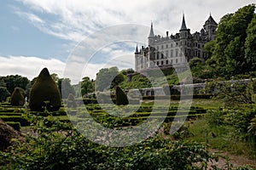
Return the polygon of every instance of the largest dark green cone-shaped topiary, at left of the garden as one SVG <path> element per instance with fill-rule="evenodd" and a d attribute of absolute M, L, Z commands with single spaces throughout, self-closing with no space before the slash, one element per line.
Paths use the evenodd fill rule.
<path fill-rule="evenodd" d="M 31 111 L 44 111 L 45 106 L 48 111 L 60 109 L 61 93 L 47 68 L 40 72 L 37 81 L 32 85 L 29 99 Z"/>

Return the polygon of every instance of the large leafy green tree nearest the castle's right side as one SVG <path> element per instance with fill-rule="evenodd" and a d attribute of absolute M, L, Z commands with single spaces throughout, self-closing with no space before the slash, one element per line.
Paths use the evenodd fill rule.
<path fill-rule="evenodd" d="M 219 76 L 230 78 L 248 71 L 245 59 L 247 27 L 251 23 L 255 6 L 239 8 L 235 14 L 226 14 L 220 20 L 213 47 L 212 59 L 216 62 L 215 70 Z M 207 62 L 209 63 L 209 62 Z M 210 62 L 214 63 L 214 62 Z"/>

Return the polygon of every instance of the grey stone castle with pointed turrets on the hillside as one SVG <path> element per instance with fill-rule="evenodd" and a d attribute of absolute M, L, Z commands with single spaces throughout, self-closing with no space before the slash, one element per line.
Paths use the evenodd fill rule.
<path fill-rule="evenodd" d="M 166 37 L 154 35 L 153 23 L 148 36 L 148 47 L 143 47 L 135 51 L 135 71 L 147 71 L 155 67 L 170 68 L 176 71 L 183 71 L 184 65 L 195 57 L 207 59 L 208 54 L 203 51 L 204 44 L 215 38 L 218 24 L 210 14 L 208 20 L 200 32 L 191 34 L 187 28 L 184 14 L 179 33 Z"/>

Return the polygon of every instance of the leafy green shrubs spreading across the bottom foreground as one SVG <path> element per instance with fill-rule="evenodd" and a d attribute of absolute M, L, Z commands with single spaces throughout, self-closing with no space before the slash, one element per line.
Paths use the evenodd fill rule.
<path fill-rule="evenodd" d="M 40 121 L 40 120 L 38 120 Z M 58 133 L 56 133 L 58 132 Z M 203 144 L 149 138 L 128 147 L 107 147 L 84 138 L 67 123 L 38 126 L 8 152 L 0 152 L 0 165 L 9 169 L 199 169 L 217 160 Z M 196 165 L 196 163 L 198 164 Z"/>

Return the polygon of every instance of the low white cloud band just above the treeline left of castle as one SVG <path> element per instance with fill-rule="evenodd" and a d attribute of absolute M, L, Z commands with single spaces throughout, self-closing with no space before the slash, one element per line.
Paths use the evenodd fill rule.
<path fill-rule="evenodd" d="M 119 68 L 121 70 L 133 65 L 131 59 L 124 59 L 122 56 L 119 57 L 119 59 L 113 59 L 113 62 L 110 61 L 109 63 L 90 64 L 77 60 L 73 61 L 72 64 L 69 63 L 67 65 L 67 63 L 58 59 L 40 59 L 38 57 L 26 56 L 0 56 L 0 68 L 4 68 L 0 71 L 0 76 L 20 75 L 32 80 L 34 77 L 38 77 L 39 72 L 46 67 L 50 74 L 56 73 L 59 77 L 70 78 L 72 83 L 78 83 L 83 77 L 95 79 L 96 73 L 102 68 L 120 65 Z M 65 72 L 67 74 L 65 74 Z"/>

